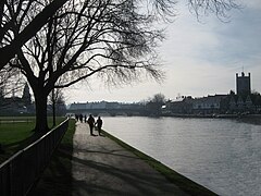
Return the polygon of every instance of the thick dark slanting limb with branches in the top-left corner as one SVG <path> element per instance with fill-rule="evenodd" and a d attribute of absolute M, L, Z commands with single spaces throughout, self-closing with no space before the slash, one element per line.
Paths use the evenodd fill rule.
<path fill-rule="evenodd" d="M 17 50 L 30 39 L 67 0 L 1 0 L 0 1 L 0 70 L 14 58 Z M 32 20 L 28 13 L 34 11 Z"/>

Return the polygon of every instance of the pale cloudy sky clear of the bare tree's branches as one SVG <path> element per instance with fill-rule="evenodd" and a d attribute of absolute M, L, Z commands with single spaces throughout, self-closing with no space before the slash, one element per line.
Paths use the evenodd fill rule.
<path fill-rule="evenodd" d="M 229 22 L 215 16 L 200 17 L 177 4 L 175 22 L 167 25 L 166 39 L 159 48 L 166 77 L 162 84 L 141 84 L 105 88 L 102 83 L 71 87 L 66 102 L 136 102 L 161 93 L 166 98 L 202 97 L 235 90 L 235 75 L 251 73 L 251 89 L 261 93 L 261 2 L 245 1 L 240 11 L 229 12 Z"/>

